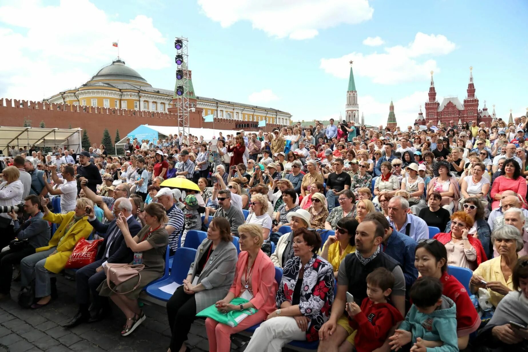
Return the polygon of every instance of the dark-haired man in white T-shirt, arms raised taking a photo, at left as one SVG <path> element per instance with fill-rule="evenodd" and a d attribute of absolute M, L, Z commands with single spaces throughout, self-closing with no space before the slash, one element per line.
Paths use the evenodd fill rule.
<path fill-rule="evenodd" d="M 42 175 L 44 180 L 44 187 L 48 190 L 48 193 L 52 196 L 61 196 L 61 214 L 67 214 L 70 211 L 75 210 L 76 198 L 77 198 L 77 181 L 74 178 L 75 171 L 72 166 L 66 165 L 62 171 L 62 179 L 57 175 L 55 166 L 49 166 L 51 171 L 51 179 L 57 185 L 56 189 L 51 187 L 48 183 L 46 175 Z"/>

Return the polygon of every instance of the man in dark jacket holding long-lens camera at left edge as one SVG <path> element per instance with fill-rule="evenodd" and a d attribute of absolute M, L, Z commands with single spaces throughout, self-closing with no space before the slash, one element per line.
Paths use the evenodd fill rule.
<path fill-rule="evenodd" d="M 21 209 L 18 209 L 21 210 Z M 17 212 L 7 213 L 13 219 L 13 230 L 16 240 L 11 241 L 10 249 L 0 253 L 0 300 L 11 298 L 11 279 L 13 265 L 28 255 L 35 253 L 35 248 L 48 244 L 51 233 L 48 221 L 42 219 L 39 197 L 31 194 L 24 198 L 24 212 L 30 216 L 23 224 L 18 221 Z"/>

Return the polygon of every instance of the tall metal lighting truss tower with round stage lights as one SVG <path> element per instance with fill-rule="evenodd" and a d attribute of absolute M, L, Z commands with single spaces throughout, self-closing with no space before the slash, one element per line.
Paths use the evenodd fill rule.
<path fill-rule="evenodd" d="M 176 37 L 175 40 L 181 40 L 182 41 L 182 48 L 176 49 L 176 54 L 182 55 L 183 61 L 180 64 L 176 64 L 177 68 L 176 70 L 183 70 L 183 77 L 182 79 L 176 79 L 176 89 L 174 90 L 174 99 L 175 99 L 175 105 L 177 106 L 177 114 L 178 114 L 178 133 L 182 133 L 184 136 L 188 136 L 190 131 L 190 119 L 189 119 L 189 110 L 191 108 L 191 105 L 189 103 L 189 79 L 188 79 L 188 39 L 183 37 Z M 177 87 L 182 86 L 183 87 L 183 94 L 178 96 L 177 95 Z"/>

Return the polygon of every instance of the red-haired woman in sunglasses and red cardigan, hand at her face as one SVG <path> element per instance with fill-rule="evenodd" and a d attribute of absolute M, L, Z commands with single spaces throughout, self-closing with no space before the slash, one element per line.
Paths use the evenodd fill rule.
<path fill-rule="evenodd" d="M 451 215 L 451 231 L 433 237 L 446 246 L 447 265 L 475 270 L 480 263 L 487 261 L 478 235 L 468 234 L 474 223 L 473 218 L 465 211 L 457 211 Z"/>

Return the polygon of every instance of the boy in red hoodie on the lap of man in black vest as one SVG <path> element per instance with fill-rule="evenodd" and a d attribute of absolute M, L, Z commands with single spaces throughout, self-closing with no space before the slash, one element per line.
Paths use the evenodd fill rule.
<path fill-rule="evenodd" d="M 354 347 L 357 352 L 370 352 L 379 348 L 389 335 L 389 330 L 402 321 L 398 309 L 387 302 L 394 285 L 394 275 L 379 267 L 366 277 L 367 298 L 361 308 L 355 302 L 346 303 L 351 327 L 357 330 Z"/>

